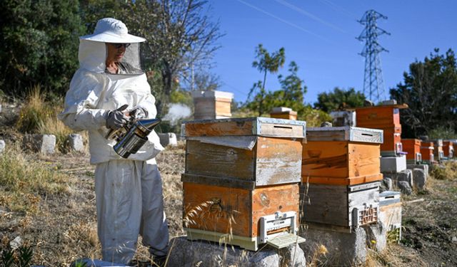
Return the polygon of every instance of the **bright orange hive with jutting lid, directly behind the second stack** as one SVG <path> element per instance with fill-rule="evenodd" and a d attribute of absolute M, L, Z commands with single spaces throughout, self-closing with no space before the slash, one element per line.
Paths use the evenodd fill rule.
<path fill-rule="evenodd" d="M 395 156 L 401 152 L 400 109 L 408 105 L 377 105 L 356 109 L 357 127 L 381 129 L 384 132 L 384 142 L 381 145 L 381 155 Z"/>

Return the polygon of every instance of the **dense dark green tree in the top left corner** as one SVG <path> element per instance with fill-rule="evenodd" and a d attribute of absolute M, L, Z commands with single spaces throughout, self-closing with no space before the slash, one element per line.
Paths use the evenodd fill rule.
<path fill-rule="evenodd" d="M 84 33 L 78 1 L 0 1 L 4 93 L 24 96 L 24 88 L 41 84 L 63 95 L 78 68 L 78 36 Z"/>

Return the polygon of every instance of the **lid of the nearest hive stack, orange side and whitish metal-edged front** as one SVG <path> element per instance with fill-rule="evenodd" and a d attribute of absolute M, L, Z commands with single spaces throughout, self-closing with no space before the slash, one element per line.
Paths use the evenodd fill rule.
<path fill-rule="evenodd" d="M 305 138 L 306 122 L 272 117 L 243 117 L 188 120 L 181 125 L 182 137 L 240 135 Z"/>

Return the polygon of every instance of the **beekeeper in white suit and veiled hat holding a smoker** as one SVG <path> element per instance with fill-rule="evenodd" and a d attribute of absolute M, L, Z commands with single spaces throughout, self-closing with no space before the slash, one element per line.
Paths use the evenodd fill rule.
<path fill-rule="evenodd" d="M 115 140 L 106 139 L 110 129 L 123 127 L 130 116 L 156 116 L 155 98 L 140 67 L 139 43 L 144 41 L 119 20 L 99 20 L 94 34 L 79 38 L 79 69 L 59 115 L 71 129 L 89 131 L 101 251 L 104 261 L 115 263 L 129 263 L 139 234 L 155 260 L 168 251 L 162 182 L 154 159 L 164 149 L 159 137 L 151 132 L 128 159 L 116 154 Z"/>

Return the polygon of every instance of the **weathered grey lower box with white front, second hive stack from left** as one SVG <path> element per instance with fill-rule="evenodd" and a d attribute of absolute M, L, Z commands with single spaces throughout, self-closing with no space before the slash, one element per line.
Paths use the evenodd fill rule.
<path fill-rule="evenodd" d="M 303 221 L 348 231 L 376 223 L 380 184 L 308 184 L 308 188 L 304 184 L 301 186 Z"/>

